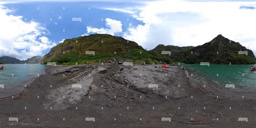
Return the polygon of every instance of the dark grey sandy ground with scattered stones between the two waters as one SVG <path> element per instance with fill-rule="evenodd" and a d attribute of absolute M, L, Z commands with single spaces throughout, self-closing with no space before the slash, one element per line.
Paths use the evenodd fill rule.
<path fill-rule="evenodd" d="M 194 79 L 178 66 L 158 69 L 142 65 L 138 70 L 118 64 L 53 66 L 21 95 L 0 101 L 0 124 L 255 126 L 255 101 L 228 97 L 229 92 Z M 9 117 L 19 121 L 10 122 Z M 95 122 L 85 121 L 86 117 Z M 161 121 L 162 117 L 172 120 Z M 239 117 L 248 122 L 238 121 Z"/>

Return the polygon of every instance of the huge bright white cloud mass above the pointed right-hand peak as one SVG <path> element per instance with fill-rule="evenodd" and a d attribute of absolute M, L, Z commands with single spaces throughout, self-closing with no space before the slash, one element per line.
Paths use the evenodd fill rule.
<path fill-rule="evenodd" d="M 147 49 L 157 44 L 197 46 L 221 34 L 256 55 L 256 9 L 240 9 L 256 2 L 146 2 L 133 16 L 144 24 L 131 25 L 123 37 Z"/>

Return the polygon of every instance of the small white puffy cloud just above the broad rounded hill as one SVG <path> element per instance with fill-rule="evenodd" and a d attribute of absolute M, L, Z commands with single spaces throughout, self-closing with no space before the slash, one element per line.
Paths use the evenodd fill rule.
<path fill-rule="evenodd" d="M 122 23 L 115 19 L 106 18 L 106 28 L 92 28 L 91 26 L 86 26 L 87 33 L 103 33 L 114 35 L 115 33 L 122 32 Z"/>

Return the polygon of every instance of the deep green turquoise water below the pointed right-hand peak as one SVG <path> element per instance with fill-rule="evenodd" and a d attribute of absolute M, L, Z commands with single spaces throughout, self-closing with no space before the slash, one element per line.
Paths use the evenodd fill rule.
<path fill-rule="evenodd" d="M 203 66 L 199 64 L 185 64 L 185 68 L 192 70 L 197 77 L 204 77 L 218 86 L 234 84 L 236 88 L 245 90 L 256 89 L 256 71 L 250 71 L 250 66 L 222 64 Z"/>

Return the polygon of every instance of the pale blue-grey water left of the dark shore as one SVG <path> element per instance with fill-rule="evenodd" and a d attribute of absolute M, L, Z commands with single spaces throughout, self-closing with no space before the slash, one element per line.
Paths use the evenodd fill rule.
<path fill-rule="evenodd" d="M 25 85 L 44 73 L 45 65 L 41 64 L 4 64 L 0 70 L 0 84 L 4 87 Z"/>

